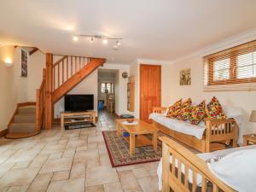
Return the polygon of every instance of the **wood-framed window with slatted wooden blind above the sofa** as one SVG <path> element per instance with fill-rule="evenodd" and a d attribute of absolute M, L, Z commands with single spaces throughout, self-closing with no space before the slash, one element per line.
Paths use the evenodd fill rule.
<path fill-rule="evenodd" d="M 256 40 L 204 57 L 204 90 L 256 90 Z"/>

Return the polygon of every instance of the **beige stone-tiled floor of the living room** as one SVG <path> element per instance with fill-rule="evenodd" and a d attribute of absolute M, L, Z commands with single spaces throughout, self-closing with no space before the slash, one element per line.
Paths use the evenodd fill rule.
<path fill-rule="evenodd" d="M 112 168 L 102 130 L 114 116 L 99 113 L 96 128 L 0 139 L 0 192 L 157 192 L 158 162 Z"/>

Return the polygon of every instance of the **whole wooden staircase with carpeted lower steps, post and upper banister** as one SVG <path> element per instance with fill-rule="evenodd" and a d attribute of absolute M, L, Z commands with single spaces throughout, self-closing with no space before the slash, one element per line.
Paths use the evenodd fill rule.
<path fill-rule="evenodd" d="M 43 125 L 44 129 L 51 129 L 55 102 L 105 61 L 102 58 L 66 55 L 53 63 L 53 55 L 46 54 L 46 68 L 43 69 L 43 81 L 37 90 L 37 101 L 17 105 L 5 137 L 31 137 L 40 133 Z"/>

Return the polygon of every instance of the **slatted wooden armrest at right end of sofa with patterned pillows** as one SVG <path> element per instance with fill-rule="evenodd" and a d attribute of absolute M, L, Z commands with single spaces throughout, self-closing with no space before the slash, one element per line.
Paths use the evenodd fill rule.
<path fill-rule="evenodd" d="M 238 126 L 235 119 L 206 120 L 206 152 L 210 152 L 210 143 L 232 140 L 237 147 Z"/>

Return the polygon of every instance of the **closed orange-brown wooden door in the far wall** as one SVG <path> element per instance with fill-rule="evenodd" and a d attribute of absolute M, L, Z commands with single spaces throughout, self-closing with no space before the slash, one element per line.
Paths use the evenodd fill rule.
<path fill-rule="evenodd" d="M 154 107 L 161 106 L 161 67 L 140 65 L 140 119 L 148 121 Z"/>

